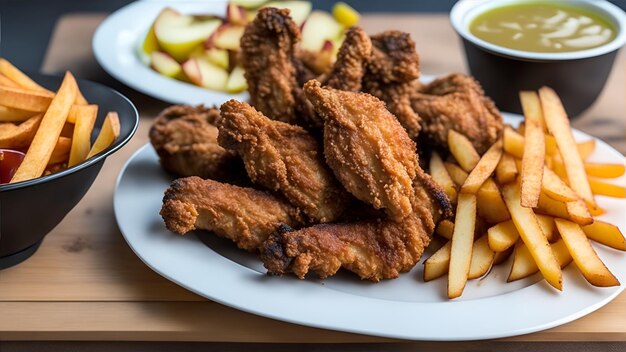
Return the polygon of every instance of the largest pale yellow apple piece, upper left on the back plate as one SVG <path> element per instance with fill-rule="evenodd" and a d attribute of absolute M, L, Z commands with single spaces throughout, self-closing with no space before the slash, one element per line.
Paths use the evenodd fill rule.
<path fill-rule="evenodd" d="M 165 8 L 154 22 L 154 34 L 159 46 L 182 62 L 221 24 L 222 21 L 217 18 L 196 20 L 193 16 L 181 15 L 171 8 Z"/>

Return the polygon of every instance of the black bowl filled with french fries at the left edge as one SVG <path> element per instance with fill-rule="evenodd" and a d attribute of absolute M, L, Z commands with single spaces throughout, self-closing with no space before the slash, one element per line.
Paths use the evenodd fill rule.
<path fill-rule="evenodd" d="M 65 79 L 26 76 L 0 59 L 0 80 L 6 91 L 0 92 L 0 172 L 4 182 L 7 173 L 11 178 L 0 184 L 3 269 L 35 253 L 89 190 L 105 159 L 132 138 L 139 117 L 120 93 L 69 73 Z M 23 126 L 28 121 L 36 125 L 32 131 Z M 21 164 L 8 170 L 19 152 Z"/>

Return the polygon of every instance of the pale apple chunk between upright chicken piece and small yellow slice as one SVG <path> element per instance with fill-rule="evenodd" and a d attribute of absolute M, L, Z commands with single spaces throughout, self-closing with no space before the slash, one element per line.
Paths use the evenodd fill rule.
<path fill-rule="evenodd" d="M 331 15 L 322 11 L 313 11 L 302 26 L 300 47 L 311 52 L 319 52 L 326 41 L 341 37 L 343 26 Z"/>

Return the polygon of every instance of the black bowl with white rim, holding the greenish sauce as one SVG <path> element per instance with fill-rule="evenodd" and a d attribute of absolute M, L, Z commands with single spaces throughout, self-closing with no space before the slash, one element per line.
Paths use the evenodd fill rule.
<path fill-rule="evenodd" d="M 467 29 L 476 15 L 509 3 L 535 0 L 460 0 L 450 19 L 461 36 L 471 74 L 482 84 L 498 108 L 521 113 L 519 92 L 553 88 L 570 117 L 576 117 L 598 98 L 611 72 L 618 50 L 626 42 L 626 15 L 604 0 L 572 0 L 604 15 L 617 28 L 617 37 L 600 47 L 564 53 L 536 53 L 485 42 Z M 549 0 L 544 0 L 549 1 Z"/>

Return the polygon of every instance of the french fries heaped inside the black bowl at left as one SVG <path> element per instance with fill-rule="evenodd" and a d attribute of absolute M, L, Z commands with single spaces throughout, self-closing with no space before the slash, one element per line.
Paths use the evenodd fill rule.
<path fill-rule="evenodd" d="M 0 58 L 0 148 L 26 152 L 11 183 L 72 167 L 110 146 L 120 134 L 119 117 L 107 114 L 92 145 L 97 115 L 70 72 L 52 92 Z"/>

